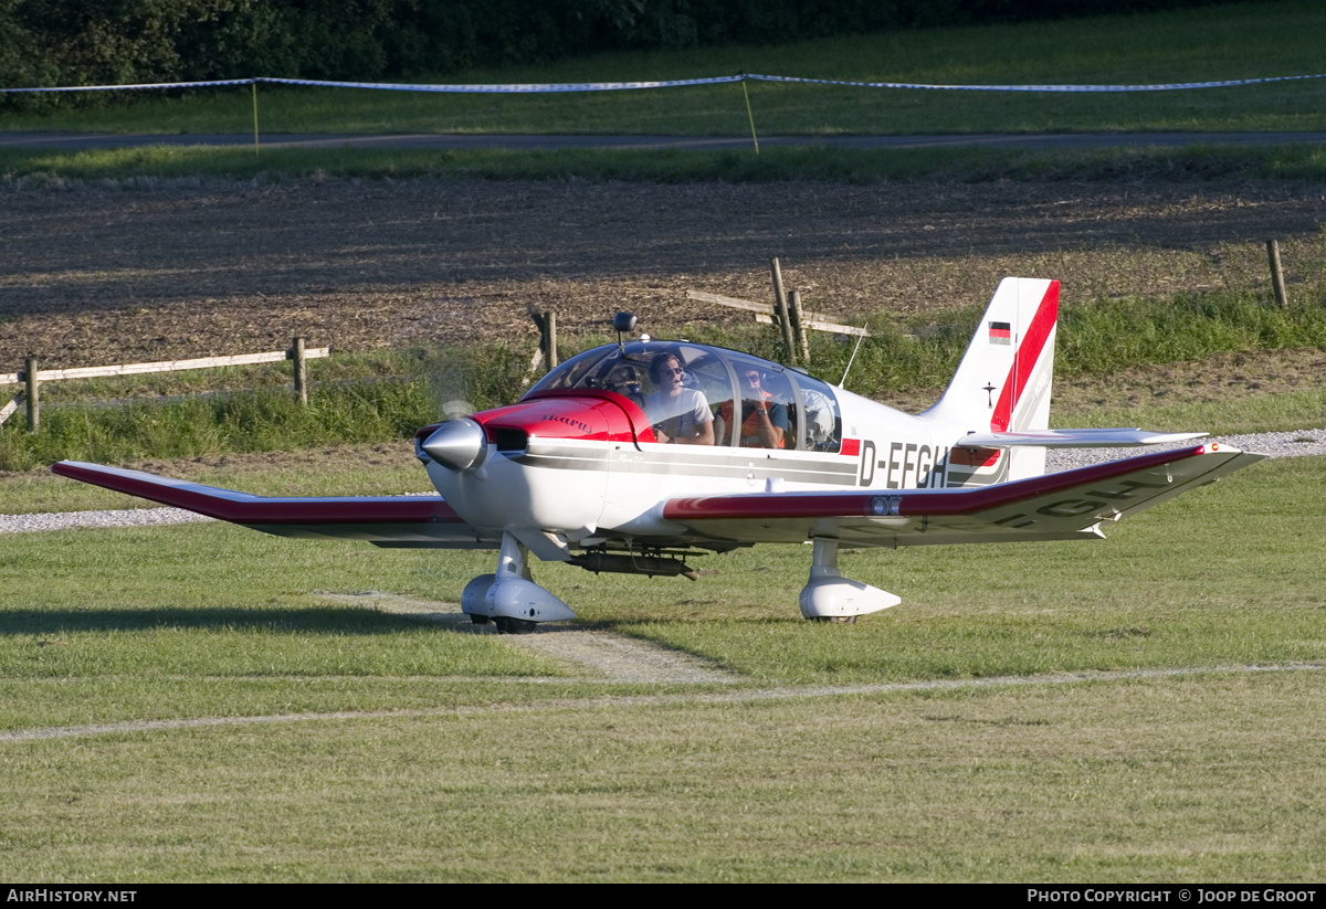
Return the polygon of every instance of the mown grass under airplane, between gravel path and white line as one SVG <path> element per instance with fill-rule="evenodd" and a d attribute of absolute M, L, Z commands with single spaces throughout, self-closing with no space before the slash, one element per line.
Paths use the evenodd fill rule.
<path fill-rule="evenodd" d="M 699 582 L 594 576 L 556 563 L 534 571 L 579 621 L 760 684 L 1317 661 L 1326 596 L 1315 579 L 1326 541 L 1303 527 L 1326 513 L 1321 469 L 1319 457 L 1256 465 L 1107 529 L 1103 542 L 845 555 L 847 576 L 903 598 L 850 627 L 800 617 L 804 546 L 703 557 Z M 0 674 L 114 678 L 117 697 L 135 706 L 123 713 L 114 698 L 62 698 L 56 686 L 42 689 L 53 700 L 5 700 L 4 723 L 196 716 L 203 704 L 229 716 L 217 706 L 225 689 L 264 678 L 316 692 L 298 710 L 332 710 L 381 704 L 390 686 L 374 678 L 557 674 L 503 656 L 496 639 L 471 644 L 468 635 L 332 607 L 310 594 L 375 588 L 455 602 L 493 559 L 280 539 L 227 525 L 5 535 Z M 179 696 L 141 713 L 164 677 Z M 187 704 L 195 708 L 180 713 Z M 286 709 L 296 708 L 264 712 Z"/>

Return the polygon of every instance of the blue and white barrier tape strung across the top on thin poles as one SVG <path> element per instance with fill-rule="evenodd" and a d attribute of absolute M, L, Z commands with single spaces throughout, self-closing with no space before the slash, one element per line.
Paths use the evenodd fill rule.
<path fill-rule="evenodd" d="M 935 91 L 1050 91 L 1050 93 L 1122 93 L 1122 91 L 1181 91 L 1187 89 L 1227 89 L 1240 85 L 1266 85 L 1298 80 L 1326 78 L 1326 73 L 1311 76 L 1269 76 L 1254 80 L 1225 80 L 1221 82 L 1170 82 L 1163 85 L 927 85 L 924 82 L 851 82 L 846 80 L 810 80 L 796 76 L 713 76 L 697 80 L 668 80 L 663 82 L 533 82 L 509 85 L 407 85 L 399 82 L 328 82 L 321 80 L 282 80 L 260 76 L 249 80 L 219 80 L 212 82 L 145 82 L 139 85 L 65 85 L 57 87 L 0 89 L 0 94 L 32 91 L 115 91 L 130 89 L 199 89 L 225 85 L 312 85 L 329 89 L 371 89 L 381 91 L 438 91 L 447 94 L 542 94 L 564 91 L 633 91 L 639 89 L 675 89 L 688 85 L 723 85 L 751 80 L 754 82 L 798 82 L 805 85 L 842 85 L 861 89 L 922 89 Z"/>

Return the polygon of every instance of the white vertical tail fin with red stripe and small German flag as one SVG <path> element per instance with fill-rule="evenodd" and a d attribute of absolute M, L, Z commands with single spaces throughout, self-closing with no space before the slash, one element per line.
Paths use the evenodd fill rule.
<path fill-rule="evenodd" d="M 968 432 L 1048 428 L 1058 315 L 1058 281 L 1004 278 L 948 390 L 923 419 L 937 433 L 952 432 L 953 441 Z M 1045 449 L 1012 455 L 998 480 L 1045 472 Z"/>

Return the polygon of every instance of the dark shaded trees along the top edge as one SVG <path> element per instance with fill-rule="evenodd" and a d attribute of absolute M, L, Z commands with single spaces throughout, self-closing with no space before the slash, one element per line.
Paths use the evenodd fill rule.
<path fill-rule="evenodd" d="M 1221 0 L 0 0 L 0 85 L 439 77 L 626 49 L 1150 12 Z M 11 105 L 103 103 L 9 95 Z"/>

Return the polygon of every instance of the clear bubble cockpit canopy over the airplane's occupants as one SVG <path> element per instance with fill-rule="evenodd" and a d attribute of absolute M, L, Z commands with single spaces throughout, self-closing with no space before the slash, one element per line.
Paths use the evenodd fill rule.
<path fill-rule="evenodd" d="M 658 429 L 668 419 L 664 372 L 675 368 L 682 371 L 684 388 L 703 395 L 717 445 L 809 452 L 837 452 L 842 445 L 842 416 L 831 386 L 758 356 L 686 341 L 595 347 L 552 370 L 530 394 L 615 391 L 639 407 Z M 757 419 L 757 411 L 769 416 L 776 432 L 768 427 L 760 431 L 764 421 Z"/>

